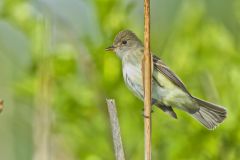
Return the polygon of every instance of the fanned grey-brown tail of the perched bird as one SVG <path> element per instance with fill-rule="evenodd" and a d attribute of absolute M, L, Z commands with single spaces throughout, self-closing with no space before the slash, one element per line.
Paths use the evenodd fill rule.
<path fill-rule="evenodd" d="M 215 129 L 226 118 L 227 111 L 225 108 L 195 97 L 194 100 L 200 108 L 192 115 L 208 129 Z"/>

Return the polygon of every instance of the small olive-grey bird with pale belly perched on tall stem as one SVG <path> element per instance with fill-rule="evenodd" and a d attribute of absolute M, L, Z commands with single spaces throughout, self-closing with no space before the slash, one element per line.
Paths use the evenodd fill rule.
<path fill-rule="evenodd" d="M 142 59 L 144 46 L 141 40 L 133 32 L 123 30 L 117 34 L 113 45 L 106 50 L 114 51 L 122 60 L 126 85 L 138 98 L 143 100 Z M 210 130 L 226 118 L 227 111 L 223 107 L 192 96 L 182 81 L 162 60 L 154 54 L 151 55 L 153 57 L 152 105 L 156 105 L 174 118 L 177 118 L 177 115 L 173 108 L 181 109 Z"/>

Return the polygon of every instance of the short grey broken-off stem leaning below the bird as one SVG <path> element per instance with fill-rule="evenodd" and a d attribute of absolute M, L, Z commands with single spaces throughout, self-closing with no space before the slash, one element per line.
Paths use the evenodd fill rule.
<path fill-rule="evenodd" d="M 116 160 L 125 160 L 115 101 L 107 99 Z"/>

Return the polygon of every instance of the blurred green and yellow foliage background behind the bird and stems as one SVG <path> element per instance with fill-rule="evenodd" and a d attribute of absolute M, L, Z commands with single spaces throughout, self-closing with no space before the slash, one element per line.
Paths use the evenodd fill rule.
<path fill-rule="evenodd" d="M 126 158 L 143 159 L 143 103 L 107 53 L 117 32 L 143 39 L 143 1 L 1 0 L 1 160 L 112 160 L 106 98 L 117 103 Z M 240 157 L 240 1 L 151 0 L 151 50 L 189 91 L 228 109 L 208 131 L 153 113 L 153 159 Z"/>

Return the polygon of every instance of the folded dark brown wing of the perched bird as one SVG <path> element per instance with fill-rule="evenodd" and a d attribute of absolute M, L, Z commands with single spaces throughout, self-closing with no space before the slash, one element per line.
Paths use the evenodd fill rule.
<path fill-rule="evenodd" d="M 185 93 L 191 96 L 182 81 L 162 62 L 160 58 L 155 55 L 153 55 L 153 66 L 154 69 L 165 75 L 174 85 L 176 85 Z"/>

